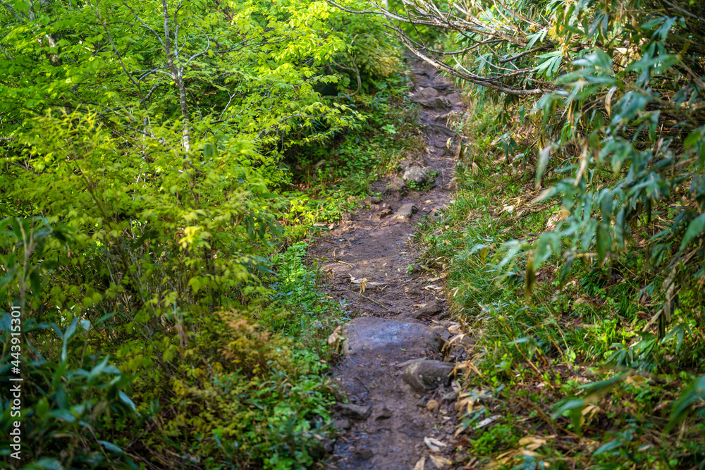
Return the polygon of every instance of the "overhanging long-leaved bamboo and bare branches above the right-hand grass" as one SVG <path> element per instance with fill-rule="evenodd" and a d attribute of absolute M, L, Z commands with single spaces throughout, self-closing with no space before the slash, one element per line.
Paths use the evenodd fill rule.
<path fill-rule="evenodd" d="M 585 258 L 619 262 L 643 241 L 644 268 L 675 268 L 646 291 L 658 299 L 663 333 L 681 286 L 701 285 L 705 275 L 677 268 L 698 266 L 705 256 L 702 7 L 685 0 L 480 1 L 443 12 L 418 0 L 399 10 L 386 11 L 391 23 L 447 33 L 436 49 L 419 39 L 420 55 L 474 84 L 479 96 L 503 100 L 508 132 L 498 144 L 534 165 L 537 189 L 547 171 L 568 173 L 541 194 L 558 197 L 568 216 L 541 235 L 534 269 L 551 255 L 566 256 L 564 273 Z M 517 123 L 525 120 L 535 127 L 520 146 Z M 652 230 L 654 221 L 666 230 Z M 522 249 L 534 246 L 512 253 Z"/>

